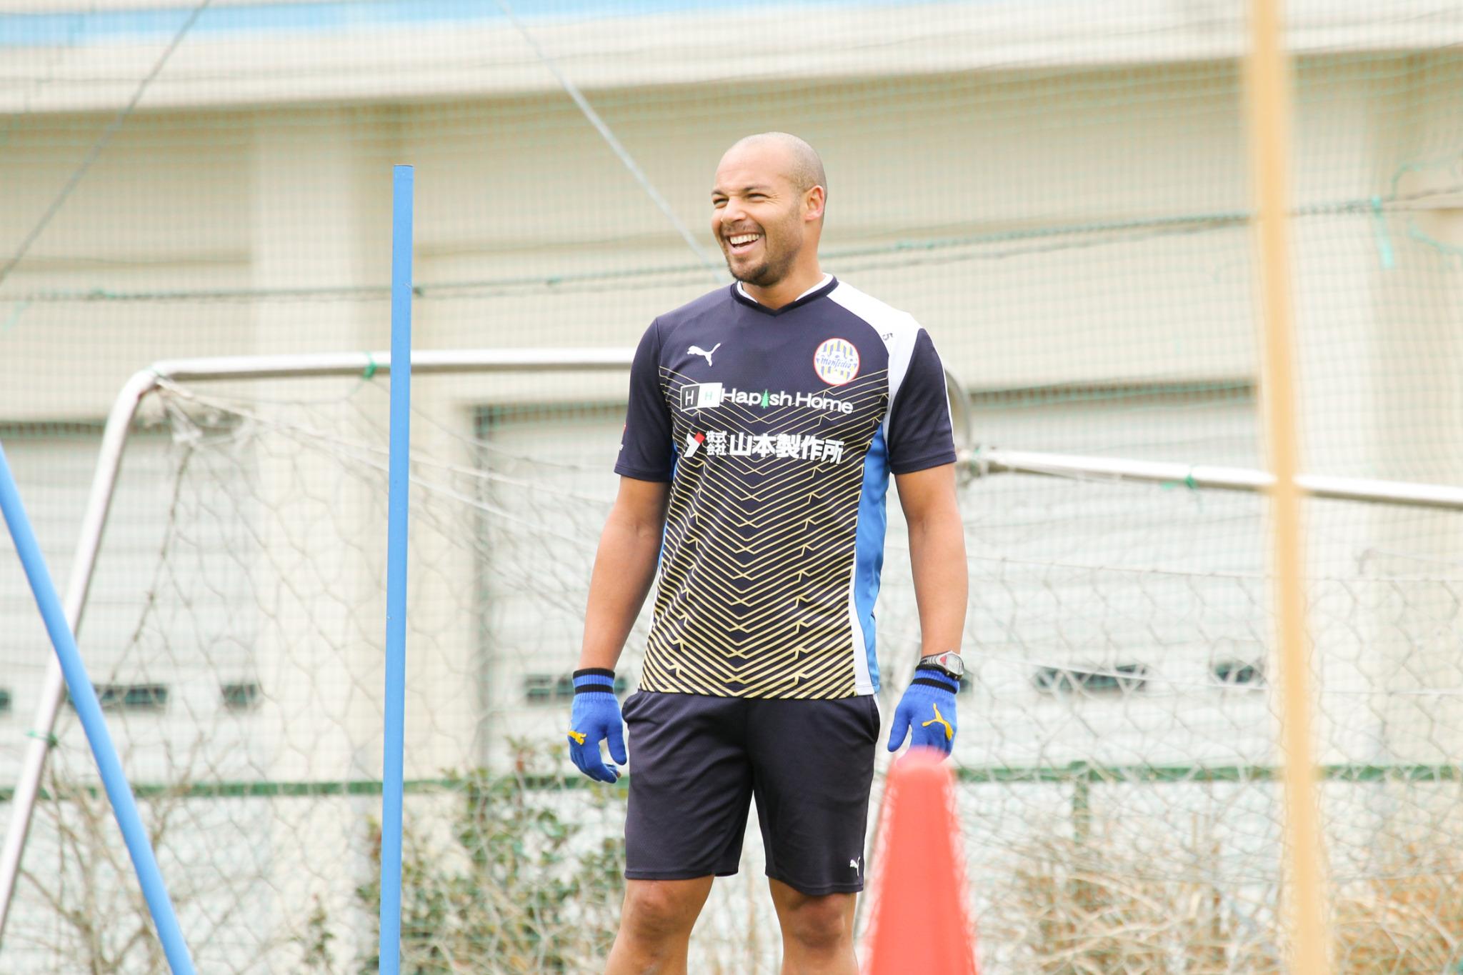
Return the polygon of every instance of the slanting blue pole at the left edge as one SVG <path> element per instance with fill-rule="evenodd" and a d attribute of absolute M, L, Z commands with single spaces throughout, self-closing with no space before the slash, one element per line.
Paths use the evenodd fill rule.
<path fill-rule="evenodd" d="M 41 547 L 31 529 L 31 519 L 26 517 L 25 506 L 20 504 L 20 491 L 10 474 L 4 447 L 0 447 L 0 510 L 4 512 L 6 525 L 10 526 L 10 538 L 15 539 L 15 550 L 25 567 L 25 577 L 29 579 L 31 592 L 35 593 L 35 602 L 41 608 L 45 631 L 50 633 L 56 656 L 61 662 L 61 674 L 66 675 L 72 703 L 76 706 L 76 715 L 82 719 L 92 754 L 97 757 L 102 786 L 107 789 L 111 811 L 117 817 L 121 838 L 132 855 L 132 867 L 138 871 L 138 883 L 142 884 L 142 896 L 148 902 L 148 911 L 152 912 L 152 925 L 158 931 L 158 940 L 162 941 L 162 953 L 168 959 L 168 968 L 173 969 L 173 975 L 193 975 L 193 957 L 183 941 L 183 930 L 178 928 L 177 915 L 173 912 L 173 900 L 162 883 L 162 871 L 158 870 L 158 860 L 152 854 L 152 843 L 148 842 L 148 832 L 138 814 L 138 803 L 132 797 L 127 773 L 121 770 L 121 759 L 117 757 L 117 747 L 111 743 L 111 732 L 107 731 L 107 721 L 101 715 L 97 690 L 86 675 L 86 665 L 82 662 L 80 650 L 76 649 L 72 627 L 66 623 L 66 612 L 56 595 L 51 572 L 45 567 Z"/>

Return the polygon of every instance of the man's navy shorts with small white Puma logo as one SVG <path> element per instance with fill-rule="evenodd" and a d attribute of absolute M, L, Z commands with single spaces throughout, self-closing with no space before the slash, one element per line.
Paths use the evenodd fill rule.
<path fill-rule="evenodd" d="M 755 798 L 768 877 L 812 896 L 863 890 L 879 737 L 872 694 L 767 700 L 642 690 L 623 713 L 626 877 L 734 874 Z"/>

